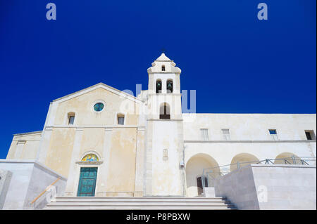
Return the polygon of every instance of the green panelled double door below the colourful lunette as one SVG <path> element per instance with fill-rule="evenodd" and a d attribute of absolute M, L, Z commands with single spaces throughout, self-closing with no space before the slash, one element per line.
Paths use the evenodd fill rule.
<path fill-rule="evenodd" d="M 77 197 L 94 196 L 97 180 L 97 167 L 80 168 L 80 183 L 78 185 Z"/>

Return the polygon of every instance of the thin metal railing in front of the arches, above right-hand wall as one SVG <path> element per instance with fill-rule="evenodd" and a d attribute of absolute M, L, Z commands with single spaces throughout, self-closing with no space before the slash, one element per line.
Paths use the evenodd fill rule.
<path fill-rule="evenodd" d="M 241 169 L 249 164 L 290 164 L 290 165 L 316 165 L 316 157 L 285 157 L 280 159 L 263 159 L 248 162 L 236 162 L 235 164 L 227 164 L 223 166 L 214 166 L 203 169 L 201 175 L 202 194 L 205 187 L 213 187 L 213 180 L 218 176 L 224 176 L 232 171 Z"/>

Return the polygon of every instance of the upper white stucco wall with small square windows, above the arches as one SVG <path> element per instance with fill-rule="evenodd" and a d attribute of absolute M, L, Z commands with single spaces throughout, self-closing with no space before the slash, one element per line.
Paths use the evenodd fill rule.
<path fill-rule="evenodd" d="M 182 114 L 184 140 L 201 140 L 199 129 L 209 129 L 209 140 L 224 140 L 221 129 L 230 129 L 231 140 L 306 140 L 305 130 L 316 134 L 316 114 Z M 187 117 L 194 117 L 187 122 Z"/>

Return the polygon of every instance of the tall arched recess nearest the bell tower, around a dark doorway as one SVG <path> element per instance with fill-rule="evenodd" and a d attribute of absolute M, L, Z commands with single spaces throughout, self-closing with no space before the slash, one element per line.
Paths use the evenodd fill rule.
<path fill-rule="evenodd" d="M 213 187 L 213 178 L 220 176 L 218 166 L 216 159 L 213 159 L 209 154 L 199 153 L 192 156 L 185 166 L 187 196 L 194 197 L 199 195 L 201 188 L 197 185 L 197 178 L 201 177 L 204 169 L 216 167 L 209 170 L 212 172 L 209 173 L 208 186 Z"/>

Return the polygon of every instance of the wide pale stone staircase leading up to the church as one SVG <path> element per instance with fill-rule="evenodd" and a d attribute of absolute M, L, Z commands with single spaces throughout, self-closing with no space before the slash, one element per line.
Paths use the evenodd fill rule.
<path fill-rule="evenodd" d="M 229 210 L 236 209 L 223 197 L 56 197 L 46 210 Z"/>

